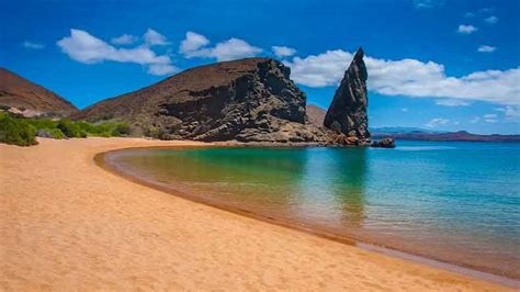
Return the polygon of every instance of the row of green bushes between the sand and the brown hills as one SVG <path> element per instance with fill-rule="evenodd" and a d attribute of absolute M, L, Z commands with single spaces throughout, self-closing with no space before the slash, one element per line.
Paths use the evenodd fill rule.
<path fill-rule="evenodd" d="M 47 138 L 84 138 L 87 136 L 118 137 L 131 134 L 126 123 L 91 124 L 63 119 L 23 119 L 0 112 L 0 143 L 29 146 L 37 144 L 35 136 Z"/>

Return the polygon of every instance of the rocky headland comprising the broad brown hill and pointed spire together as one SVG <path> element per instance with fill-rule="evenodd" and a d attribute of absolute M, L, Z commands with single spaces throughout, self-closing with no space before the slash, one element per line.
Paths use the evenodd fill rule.
<path fill-rule="evenodd" d="M 161 139 L 370 144 L 368 74 L 361 48 L 323 125 L 309 119 L 307 98 L 290 75 L 289 67 L 270 58 L 211 64 L 101 101 L 72 117 L 127 122 L 134 134 Z"/>

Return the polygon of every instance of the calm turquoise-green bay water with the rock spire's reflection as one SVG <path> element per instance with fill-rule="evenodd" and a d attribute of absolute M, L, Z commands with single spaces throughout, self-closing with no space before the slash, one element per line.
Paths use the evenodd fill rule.
<path fill-rule="evenodd" d="M 520 278 L 520 144 L 156 148 L 106 159 L 210 202 Z"/>

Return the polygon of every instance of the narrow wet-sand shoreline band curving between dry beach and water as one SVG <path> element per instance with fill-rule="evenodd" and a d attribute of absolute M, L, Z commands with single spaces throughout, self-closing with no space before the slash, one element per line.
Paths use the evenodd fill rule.
<path fill-rule="evenodd" d="M 307 147 L 307 145 L 298 145 L 299 147 Z M 260 144 L 260 145 L 246 145 L 246 144 L 211 144 L 211 145 L 202 145 L 202 147 L 280 147 L 280 148 L 286 148 L 290 146 L 279 146 L 279 145 L 265 145 L 265 144 Z M 315 146 L 319 147 L 319 146 Z M 174 147 L 176 149 L 183 149 L 183 148 L 193 148 L 193 147 Z M 115 162 L 117 160 L 117 154 L 124 153 L 125 150 L 135 150 L 135 149 L 172 149 L 172 147 L 169 146 L 158 146 L 158 147 L 139 147 L 139 148 L 129 148 L 129 149 L 116 149 L 116 150 L 110 150 L 106 153 L 100 153 L 94 156 L 94 161 L 103 169 L 106 171 L 110 171 L 116 176 L 120 176 L 122 178 L 125 178 L 129 181 L 133 181 L 135 183 L 139 183 L 142 186 L 148 187 L 148 188 L 154 188 L 156 190 L 159 190 L 161 192 L 167 192 L 172 195 L 177 195 L 180 198 L 183 198 L 185 200 L 213 206 L 219 210 L 224 210 L 227 212 L 231 212 L 235 214 L 239 214 L 242 216 L 247 216 L 250 218 L 268 222 L 270 224 L 275 224 L 282 227 L 295 229 L 298 232 L 304 232 L 308 233 L 315 236 L 319 236 L 329 240 L 335 240 L 341 244 L 347 244 L 351 246 L 357 246 L 360 248 L 363 248 L 365 250 L 372 250 L 376 251 L 380 254 L 385 254 L 389 255 L 395 258 L 400 258 L 405 260 L 410 260 L 415 261 L 418 263 L 423 263 L 430 267 L 437 267 L 441 268 L 444 270 L 453 271 L 460 274 L 468 276 L 472 278 L 477 278 L 481 280 L 485 281 L 491 281 L 496 282 L 499 284 L 506 284 L 509 287 L 520 287 L 520 281 L 515 278 L 512 274 L 506 274 L 506 273 L 500 273 L 500 271 L 493 271 L 493 270 L 486 270 L 485 268 L 482 267 L 476 267 L 476 266 L 471 266 L 471 265 L 464 265 L 463 262 L 456 262 L 456 261 L 445 261 L 441 258 L 434 257 L 433 255 L 423 255 L 423 254 L 418 254 L 418 252 L 411 252 L 407 250 L 403 250 L 399 248 L 393 248 L 386 245 L 381 245 L 381 242 L 372 242 L 368 240 L 366 238 L 359 238 L 354 237 L 353 235 L 346 235 L 346 234 L 339 234 L 332 231 L 326 231 L 323 228 L 318 228 L 316 226 L 312 226 L 309 224 L 294 221 L 294 220 L 284 220 L 281 218 L 280 216 L 276 216 L 275 213 L 267 213 L 262 214 L 260 212 L 256 212 L 252 210 L 248 210 L 247 207 L 242 207 L 240 203 L 230 203 L 230 202 L 222 202 L 222 200 L 218 199 L 211 199 L 207 196 L 202 196 L 200 193 L 199 194 L 193 194 L 190 192 L 181 191 L 180 189 L 177 189 L 174 183 L 167 183 L 167 182 L 158 182 L 151 178 L 145 178 L 140 177 L 139 173 L 133 172 L 133 171 L 127 171 L 124 167 L 121 167 Z M 115 157 L 114 157 L 115 156 Z"/>

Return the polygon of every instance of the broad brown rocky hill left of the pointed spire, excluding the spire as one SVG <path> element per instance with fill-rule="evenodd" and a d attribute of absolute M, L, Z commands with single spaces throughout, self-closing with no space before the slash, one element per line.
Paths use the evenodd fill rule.
<path fill-rule="evenodd" d="M 249 58 L 193 68 L 148 88 L 105 100 L 74 115 L 120 120 L 165 139 L 320 142 L 307 123 L 306 96 L 290 68 Z"/>

